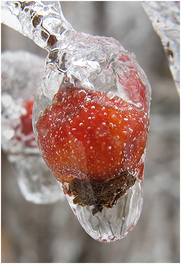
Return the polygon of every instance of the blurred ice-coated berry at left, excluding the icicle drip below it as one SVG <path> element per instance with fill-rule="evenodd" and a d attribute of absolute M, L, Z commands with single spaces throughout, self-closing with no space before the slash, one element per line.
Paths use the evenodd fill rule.
<path fill-rule="evenodd" d="M 2 147 L 11 154 L 38 154 L 31 119 L 42 59 L 28 52 L 7 51 L 1 54 L 1 65 Z"/>

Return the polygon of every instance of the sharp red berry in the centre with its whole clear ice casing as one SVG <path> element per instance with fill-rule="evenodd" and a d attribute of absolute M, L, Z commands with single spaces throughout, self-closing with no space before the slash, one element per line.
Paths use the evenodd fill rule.
<path fill-rule="evenodd" d="M 122 239 L 141 214 L 150 99 L 135 56 L 112 38 L 70 31 L 47 56 L 34 105 L 36 140 L 98 241 Z"/>

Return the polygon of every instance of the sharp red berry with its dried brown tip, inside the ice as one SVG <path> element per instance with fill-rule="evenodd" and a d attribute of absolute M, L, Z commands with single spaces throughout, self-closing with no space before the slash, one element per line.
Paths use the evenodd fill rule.
<path fill-rule="evenodd" d="M 67 84 L 36 123 L 45 162 L 75 204 L 94 206 L 93 215 L 114 206 L 143 176 L 148 91 L 130 57 L 118 59 L 130 62 L 117 76 L 123 98 Z"/>

